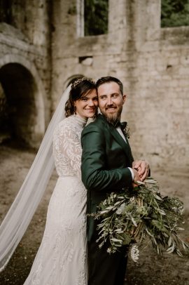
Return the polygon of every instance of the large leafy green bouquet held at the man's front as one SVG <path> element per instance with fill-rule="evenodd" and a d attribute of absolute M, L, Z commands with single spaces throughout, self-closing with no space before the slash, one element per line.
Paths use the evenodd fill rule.
<path fill-rule="evenodd" d="M 99 248 L 108 241 L 107 251 L 114 253 L 120 246 L 134 244 L 131 257 L 137 261 L 139 248 L 150 241 L 159 254 L 164 249 L 183 256 L 182 251 L 189 248 L 178 234 L 183 230 L 179 227 L 183 223 L 183 203 L 178 198 L 162 196 L 153 178 L 137 184 L 133 190 L 112 192 L 99 204 L 99 211 L 92 214 L 99 219 Z"/>

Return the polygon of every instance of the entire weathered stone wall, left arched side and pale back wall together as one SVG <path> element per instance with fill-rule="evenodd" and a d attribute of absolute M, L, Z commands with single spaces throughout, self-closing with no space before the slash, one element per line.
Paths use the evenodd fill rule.
<path fill-rule="evenodd" d="M 112 75 L 127 93 L 123 120 L 134 157 L 186 170 L 189 27 L 161 29 L 160 0 L 109 0 L 109 33 L 83 37 L 83 0 L 24 2 L 13 1 L 10 22 L 0 25 L 0 79 L 18 80 L 8 63 L 19 64 L 21 86 L 27 79 L 31 142 L 44 133 L 71 79 Z"/>

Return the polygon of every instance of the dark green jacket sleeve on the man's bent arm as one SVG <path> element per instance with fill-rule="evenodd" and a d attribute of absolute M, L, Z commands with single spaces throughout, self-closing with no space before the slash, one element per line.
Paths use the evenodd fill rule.
<path fill-rule="evenodd" d="M 102 128 L 89 124 L 81 135 L 82 181 L 87 190 L 106 191 L 126 187 L 132 183 L 128 168 L 106 169 L 106 140 Z"/>

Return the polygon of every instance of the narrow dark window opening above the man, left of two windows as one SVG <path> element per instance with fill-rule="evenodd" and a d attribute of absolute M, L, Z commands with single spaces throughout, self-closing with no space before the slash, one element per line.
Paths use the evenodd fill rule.
<path fill-rule="evenodd" d="M 107 34 L 109 25 L 109 0 L 84 0 L 85 36 Z"/>

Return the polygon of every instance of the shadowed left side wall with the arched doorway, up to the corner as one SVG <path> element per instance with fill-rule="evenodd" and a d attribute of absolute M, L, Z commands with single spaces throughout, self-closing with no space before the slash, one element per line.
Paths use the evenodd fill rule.
<path fill-rule="evenodd" d="M 4 7 L 1 1 L 0 81 L 8 103 L 9 124 L 13 136 L 35 147 L 51 115 L 48 2 L 19 0 Z"/>

